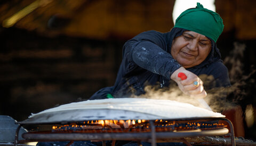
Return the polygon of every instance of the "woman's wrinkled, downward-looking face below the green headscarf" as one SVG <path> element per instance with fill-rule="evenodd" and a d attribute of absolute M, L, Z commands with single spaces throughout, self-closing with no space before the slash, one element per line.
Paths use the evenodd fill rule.
<path fill-rule="evenodd" d="M 171 54 L 184 68 L 202 63 L 211 51 L 211 40 L 194 31 L 184 31 L 172 41 Z"/>

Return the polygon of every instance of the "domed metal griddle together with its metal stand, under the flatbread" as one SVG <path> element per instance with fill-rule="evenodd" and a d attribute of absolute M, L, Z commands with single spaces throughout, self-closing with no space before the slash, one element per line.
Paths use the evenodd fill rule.
<path fill-rule="evenodd" d="M 150 108 L 150 107 L 149 107 Z M 168 111 L 166 111 L 168 112 Z M 130 110 L 118 109 L 75 109 L 44 112 L 34 115 L 26 120 L 18 122 L 19 127 L 17 133 L 23 125 L 33 124 L 69 124 L 85 120 L 129 120 L 129 119 L 145 119 L 149 121 L 150 132 L 143 133 L 25 133 L 22 135 L 27 141 L 77 141 L 77 140 L 146 140 L 150 141 L 152 145 L 162 139 L 178 139 L 182 137 L 195 136 L 230 136 L 232 145 L 235 145 L 234 129 L 231 121 L 223 117 L 193 117 L 193 118 L 166 118 L 157 115 L 151 115 L 145 112 L 136 112 Z M 211 129 L 202 131 L 188 131 L 182 132 L 156 132 L 154 121 L 156 119 L 176 120 L 176 121 L 209 121 L 209 120 L 223 120 L 229 124 L 230 133 L 227 128 Z M 15 137 L 14 145 L 19 142 L 18 137 Z"/>

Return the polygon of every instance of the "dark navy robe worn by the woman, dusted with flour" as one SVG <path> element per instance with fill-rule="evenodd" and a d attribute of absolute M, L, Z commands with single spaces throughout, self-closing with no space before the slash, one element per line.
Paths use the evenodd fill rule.
<path fill-rule="evenodd" d="M 131 94 L 144 94 L 146 85 L 170 85 L 172 73 L 181 65 L 171 55 L 172 40 L 182 35 L 186 29 L 173 28 L 167 33 L 155 30 L 145 31 L 128 40 L 123 46 L 123 60 L 117 74 L 114 86 L 105 87 L 93 94 L 92 99 L 105 99 L 107 94 L 114 98 L 127 98 Z M 211 39 L 212 50 L 207 58 L 195 67 L 187 68 L 195 75 L 213 76 L 211 86 L 230 86 L 228 69 L 221 60 L 221 55 L 216 43 Z"/>

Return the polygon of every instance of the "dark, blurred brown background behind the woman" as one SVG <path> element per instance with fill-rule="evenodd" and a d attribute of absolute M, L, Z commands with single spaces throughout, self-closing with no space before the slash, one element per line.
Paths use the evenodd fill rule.
<path fill-rule="evenodd" d="M 0 1 L 0 115 L 25 120 L 114 85 L 123 44 L 142 31 L 170 31 L 173 13 L 181 13 L 173 10 L 186 10 L 188 2 Z M 243 83 L 228 96 L 237 105 L 230 119 L 241 129 L 236 136 L 255 141 L 256 1 L 210 2 L 225 25 L 217 41 L 222 60 L 232 84 Z"/>

